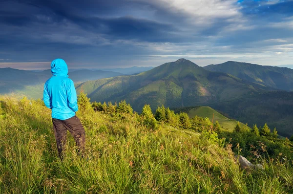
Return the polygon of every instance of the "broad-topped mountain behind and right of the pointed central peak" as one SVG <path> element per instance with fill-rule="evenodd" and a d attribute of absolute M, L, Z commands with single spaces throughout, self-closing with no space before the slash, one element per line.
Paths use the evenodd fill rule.
<path fill-rule="evenodd" d="M 273 88 L 293 91 L 293 69 L 228 61 L 204 67 L 209 71 L 224 72 L 240 79 Z"/>

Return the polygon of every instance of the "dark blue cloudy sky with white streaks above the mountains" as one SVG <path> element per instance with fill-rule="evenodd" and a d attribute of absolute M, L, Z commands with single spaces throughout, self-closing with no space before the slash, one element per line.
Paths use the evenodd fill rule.
<path fill-rule="evenodd" d="M 0 68 L 293 65 L 293 0 L 0 0 Z"/>

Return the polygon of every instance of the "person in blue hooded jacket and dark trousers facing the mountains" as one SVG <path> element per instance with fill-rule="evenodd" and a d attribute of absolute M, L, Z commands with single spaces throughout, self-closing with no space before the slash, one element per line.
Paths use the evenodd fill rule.
<path fill-rule="evenodd" d="M 77 95 L 74 83 L 68 78 L 67 64 L 63 59 L 55 59 L 51 63 L 53 76 L 44 85 L 43 101 L 52 109 L 53 129 L 59 157 L 63 159 L 67 130 L 74 137 L 78 151 L 84 153 L 85 131 L 78 110 Z"/>

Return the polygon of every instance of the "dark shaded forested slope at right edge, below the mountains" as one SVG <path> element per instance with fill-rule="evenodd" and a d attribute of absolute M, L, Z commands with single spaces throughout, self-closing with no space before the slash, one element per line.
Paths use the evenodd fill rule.
<path fill-rule="evenodd" d="M 253 124 L 262 127 L 267 123 L 271 130 L 276 127 L 282 136 L 293 135 L 293 92 L 255 92 L 245 98 L 209 106 L 250 127 Z"/>

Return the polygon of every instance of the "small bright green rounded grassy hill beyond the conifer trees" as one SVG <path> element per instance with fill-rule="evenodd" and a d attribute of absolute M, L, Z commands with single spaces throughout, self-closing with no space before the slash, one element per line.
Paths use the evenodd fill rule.
<path fill-rule="evenodd" d="M 229 119 L 225 117 L 224 115 L 217 112 L 215 109 L 210 107 L 198 107 L 198 108 L 192 108 L 188 111 L 188 116 L 190 118 L 194 118 L 195 116 L 206 118 L 208 117 L 211 121 L 214 115 L 214 122 L 218 121 L 221 126 L 225 126 L 224 129 L 228 129 L 229 131 L 234 130 L 235 126 L 237 125 L 237 121 Z M 245 127 L 246 125 L 243 123 L 240 123 L 241 127 Z"/>

